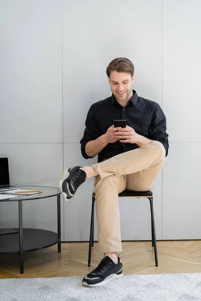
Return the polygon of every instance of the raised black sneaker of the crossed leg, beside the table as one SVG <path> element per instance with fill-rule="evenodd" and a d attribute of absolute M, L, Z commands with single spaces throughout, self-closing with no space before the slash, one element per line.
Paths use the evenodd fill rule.
<path fill-rule="evenodd" d="M 59 189 L 66 201 L 74 196 L 77 188 L 86 180 L 86 173 L 80 170 L 80 167 L 75 166 L 63 171 L 63 180 L 59 181 Z"/>

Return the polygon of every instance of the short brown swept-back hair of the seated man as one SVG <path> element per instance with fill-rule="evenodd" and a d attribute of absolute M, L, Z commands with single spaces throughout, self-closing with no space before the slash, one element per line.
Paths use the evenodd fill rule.
<path fill-rule="evenodd" d="M 106 73 L 108 77 L 110 77 L 110 74 L 112 71 L 117 71 L 117 72 L 126 72 L 130 73 L 131 77 L 134 74 L 135 68 L 133 63 L 127 59 L 127 58 L 116 58 L 110 62 L 106 69 Z"/>

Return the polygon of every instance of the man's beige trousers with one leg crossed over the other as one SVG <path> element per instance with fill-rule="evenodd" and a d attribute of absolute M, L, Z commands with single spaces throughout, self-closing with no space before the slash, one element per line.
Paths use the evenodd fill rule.
<path fill-rule="evenodd" d="M 164 158 L 163 144 L 152 141 L 92 165 L 99 174 L 95 177 L 94 193 L 100 252 L 122 251 L 118 194 L 125 189 L 152 190 Z"/>

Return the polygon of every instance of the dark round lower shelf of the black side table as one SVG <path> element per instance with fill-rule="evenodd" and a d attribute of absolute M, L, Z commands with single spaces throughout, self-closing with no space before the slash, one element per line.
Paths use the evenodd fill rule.
<path fill-rule="evenodd" d="M 18 228 L 14 228 L 19 231 Z M 41 229 L 23 228 L 24 251 L 35 251 L 50 247 L 60 241 L 57 233 Z M 0 253 L 18 253 L 19 232 L 0 235 Z"/>

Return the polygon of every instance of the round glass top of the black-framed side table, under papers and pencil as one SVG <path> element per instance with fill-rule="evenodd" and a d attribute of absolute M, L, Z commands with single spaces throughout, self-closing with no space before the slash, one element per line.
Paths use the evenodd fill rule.
<path fill-rule="evenodd" d="M 14 201 L 27 201 L 27 200 L 38 200 L 44 198 L 50 198 L 54 196 L 58 196 L 61 194 L 59 188 L 56 187 L 48 187 L 48 186 L 33 186 L 33 185 L 16 185 L 15 189 L 24 189 L 24 190 L 40 190 L 42 193 L 29 195 L 29 196 L 21 196 L 15 195 L 14 197 L 8 198 L 9 191 L 5 194 L 4 192 L 0 192 L 0 202 L 14 202 Z M 5 196 L 5 199 L 4 199 Z"/>

